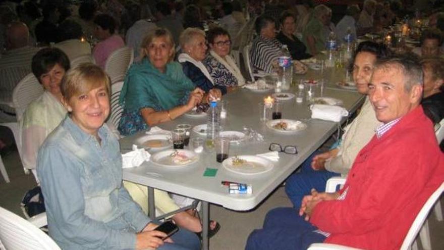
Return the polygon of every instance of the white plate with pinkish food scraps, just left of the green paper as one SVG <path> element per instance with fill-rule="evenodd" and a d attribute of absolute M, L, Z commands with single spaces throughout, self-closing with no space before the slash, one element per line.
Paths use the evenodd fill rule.
<path fill-rule="evenodd" d="M 199 155 L 186 149 L 168 149 L 153 154 L 150 161 L 159 166 L 180 167 L 193 164 L 199 160 Z"/>

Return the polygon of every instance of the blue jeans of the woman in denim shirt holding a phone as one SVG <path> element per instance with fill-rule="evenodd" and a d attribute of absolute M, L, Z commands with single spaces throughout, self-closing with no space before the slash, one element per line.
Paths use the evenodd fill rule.
<path fill-rule="evenodd" d="M 180 228 L 171 236 L 174 243 L 164 243 L 159 250 L 200 250 L 200 239 L 193 232 Z"/>

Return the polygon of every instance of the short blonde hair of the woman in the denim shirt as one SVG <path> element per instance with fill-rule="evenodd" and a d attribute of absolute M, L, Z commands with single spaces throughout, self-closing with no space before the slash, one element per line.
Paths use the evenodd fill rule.
<path fill-rule="evenodd" d="M 83 63 L 68 70 L 62 79 L 60 89 L 65 101 L 71 97 L 91 91 L 91 89 L 105 86 L 108 96 L 111 93 L 108 75 L 97 65 Z"/>

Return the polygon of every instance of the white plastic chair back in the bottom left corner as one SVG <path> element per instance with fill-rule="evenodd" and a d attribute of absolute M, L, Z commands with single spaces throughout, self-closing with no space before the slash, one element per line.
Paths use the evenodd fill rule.
<path fill-rule="evenodd" d="M 30 221 L 0 207 L 0 241 L 8 250 L 60 250 L 60 247 Z"/>

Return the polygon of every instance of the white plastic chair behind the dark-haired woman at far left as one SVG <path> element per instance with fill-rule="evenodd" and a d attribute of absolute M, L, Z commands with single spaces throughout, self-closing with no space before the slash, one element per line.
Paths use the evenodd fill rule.
<path fill-rule="evenodd" d="M 14 109 L 16 110 L 16 120 L 10 120 L 0 123 L 1 126 L 5 126 L 11 129 L 17 145 L 17 151 L 19 152 L 20 160 L 22 159 L 21 122 L 23 120 L 23 113 L 25 112 L 28 105 L 32 101 L 37 99 L 42 93 L 43 87 L 38 82 L 37 78 L 35 78 L 32 73 L 26 75 L 14 88 L 12 94 Z M 27 169 L 24 170 L 25 173 L 29 173 Z M 6 174 L 6 170 L 4 176 L 8 176 Z"/>

